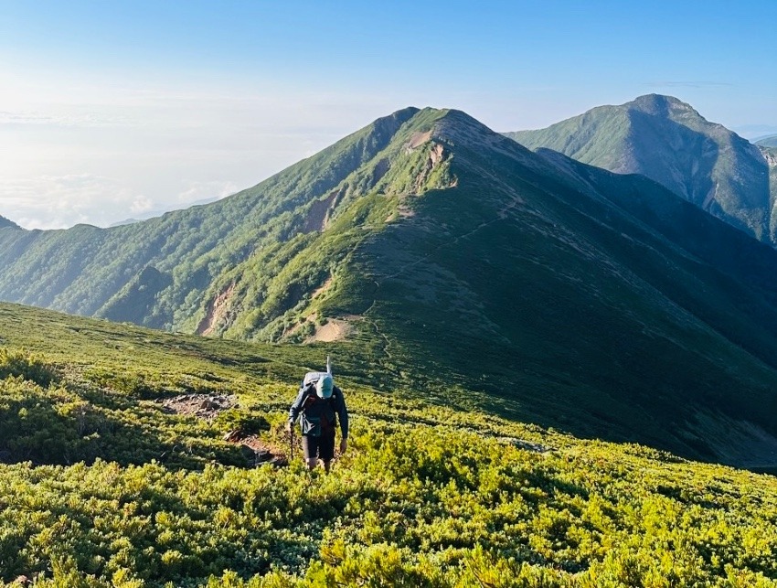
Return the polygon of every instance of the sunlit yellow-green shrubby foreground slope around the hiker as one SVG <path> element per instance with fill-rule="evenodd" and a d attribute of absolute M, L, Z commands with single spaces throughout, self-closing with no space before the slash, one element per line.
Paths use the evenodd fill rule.
<path fill-rule="evenodd" d="M 584 442 L 338 376 L 351 450 L 312 483 L 298 462 L 208 463 L 229 464 L 228 423 L 165 414 L 149 399 L 238 394 L 232 422 L 265 418 L 275 426 L 263 438 L 282 444 L 294 382 L 323 349 L 176 337 L 5 304 L 0 337 L 3 449 L 13 440 L 13 451 L 24 442 L 38 452 L 38 465 L 0 465 L 8 583 L 19 574 L 37 586 L 777 583 L 772 476 Z M 53 385 L 35 383 L 44 376 Z M 110 412 L 112 403 L 121 407 Z M 44 417 L 59 444 L 46 436 L 55 429 L 27 427 Z M 113 443 L 95 444 L 90 427 L 109 417 Z M 150 461 L 129 423 L 145 428 L 149 446 L 162 449 L 166 436 L 182 448 Z M 43 465 L 89 444 L 97 452 L 86 464 Z"/>

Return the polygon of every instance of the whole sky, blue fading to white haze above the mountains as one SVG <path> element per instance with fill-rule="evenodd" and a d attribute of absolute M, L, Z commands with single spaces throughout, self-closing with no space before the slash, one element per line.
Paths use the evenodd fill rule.
<path fill-rule="evenodd" d="M 0 0 L 0 216 L 223 198 L 406 106 L 495 131 L 647 93 L 777 134 L 773 0 Z"/>

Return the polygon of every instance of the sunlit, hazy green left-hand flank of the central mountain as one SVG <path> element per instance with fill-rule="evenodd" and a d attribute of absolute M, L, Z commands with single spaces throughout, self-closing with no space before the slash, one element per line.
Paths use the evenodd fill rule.
<path fill-rule="evenodd" d="M 282 267 L 338 207 L 378 181 L 384 171 L 379 161 L 369 170 L 373 175 L 351 174 L 385 149 L 416 112 L 396 112 L 259 186 L 210 205 L 106 230 L 0 230 L 0 297 L 134 320 L 136 310 L 120 312 L 133 305 L 122 297 L 132 296 L 130 284 L 152 268 L 163 276 L 156 285 L 165 286 L 154 293 L 143 324 L 194 331 L 218 296 L 223 298 L 214 281 L 229 273 L 238 286 L 235 294 L 253 297 L 246 301 L 246 312 L 269 298 L 262 315 L 266 323 L 293 301 L 277 292 L 280 286 L 273 289 L 274 274 L 268 274 L 265 262 L 271 259 Z M 251 273 L 256 265 L 262 271 Z M 249 292 L 245 282 L 250 282 Z M 243 330 L 255 326 L 253 321 Z M 206 323 L 202 330 L 213 329 Z"/>

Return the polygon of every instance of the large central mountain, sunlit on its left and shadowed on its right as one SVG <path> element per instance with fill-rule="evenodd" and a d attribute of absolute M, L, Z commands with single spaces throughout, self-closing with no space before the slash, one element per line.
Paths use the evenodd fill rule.
<path fill-rule="evenodd" d="M 457 111 L 395 112 L 160 219 L 0 230 L 6 300 L 339 339 L 384 390 L 738 465 L 777 461 L 775 293 L 771 247 Z"/>

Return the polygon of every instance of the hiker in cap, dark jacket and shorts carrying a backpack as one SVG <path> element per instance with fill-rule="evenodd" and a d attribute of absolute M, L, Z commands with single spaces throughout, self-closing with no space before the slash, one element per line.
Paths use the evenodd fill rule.
<path fill-rule="evenodd" d="M 345 454 L 348 447 L 348 412 L 343 390 L 335 386 L 330 372 L 317 374 L 315 381 L 303 380 L 297 399 L 289 410 L 289 422 L 286 431 L 293 431 L 294 422 L 299 418 L 302 425 L 303 452 L 309 470 L 313 470 L 318 460 L 324 462 L 329 472 L 335 457 L 335 427 L 340 417 L 340 453 Z"/>

